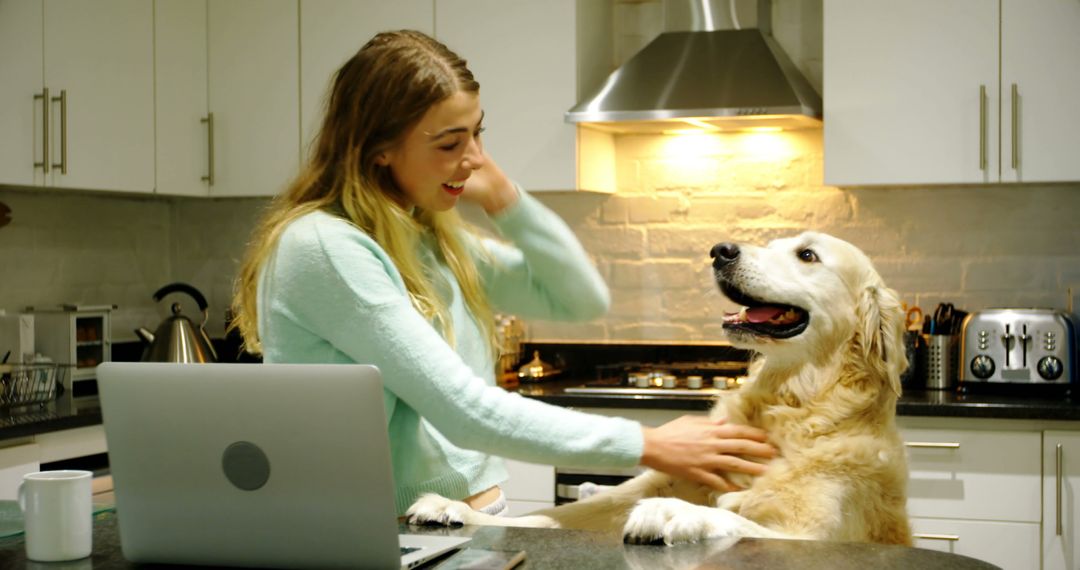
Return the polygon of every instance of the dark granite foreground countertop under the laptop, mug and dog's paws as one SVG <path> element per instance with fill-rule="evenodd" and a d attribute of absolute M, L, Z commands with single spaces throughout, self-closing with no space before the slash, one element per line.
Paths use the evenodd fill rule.
<path fill-rule="evenodd" d="M 63 568 L 153 568 L 124 560 L 116 513 L 103 513 L 94 522 L 94 551 L 90 558 L 65 564 L 40 565 Z M 744 539 L 733 545 L 711 540 L 677 546 L 623 544 L 617 532 L 459 527 L 453 529 L 401 526 L 403 532 L 472 537 L 469 547 L 525 551 L 523 570 L 604 569 L 725 569 L 798 568 L 802 570 L 983 570 L 991 565 L 922 548 L 841 542 Z M 438 560 L 426 565 L 431 568 Z M 0 539 L 0 568 L 31 568 L 23 538 Z M 164 568 L 164 567 L 162 567 Z M 170 567 L 177 568 L 177 567 Z"/>

